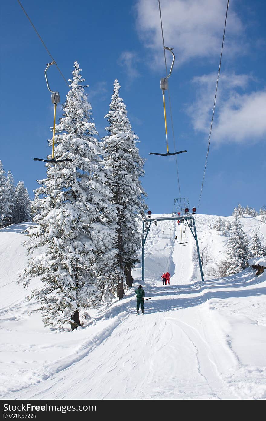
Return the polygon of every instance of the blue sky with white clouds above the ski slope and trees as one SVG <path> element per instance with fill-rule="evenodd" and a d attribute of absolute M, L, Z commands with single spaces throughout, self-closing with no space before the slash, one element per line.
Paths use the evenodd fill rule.
<path fill-rule="evenodd" d="M 80 63 L 97 131 L 105 134 L 113 82 L 121 85 L 132 128 L 146 159 L 142 184 L 153 213 L 169 213 L 179 197 L 176 162 L 166 152 L 160 78 L 165 75 L 157 0 L 45 2 L 21 0 L 66 79 Z M 165 45 L 176 62 L 169 79 L 181 197 L 198 207 L 226 0 L 161 0 Z M 199 213 L 228 216 L 234 206 L 266 204 L 266 3 L 229 2 L 210 152 Z M 50 56 L 16 0 L 1 4 L 0 159 L 31 198 L 45 178 L 53 105 L 44 70 Z M 171 56 L 167 55 L 167 64 Z M 52 89 L 61 102 L 68 87 L 55 66 Z M 168 97 L 169 149 L 174 152 Z M 60 111 L 58 117 L 60 116 Z"/>

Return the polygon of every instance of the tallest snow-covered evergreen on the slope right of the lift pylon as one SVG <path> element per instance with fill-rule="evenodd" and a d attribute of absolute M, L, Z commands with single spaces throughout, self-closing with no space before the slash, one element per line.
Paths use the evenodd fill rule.
<path fill-rule="evenodd" d="M 227 275 L 241 272 L 248 267 L 250 258 L 248 240 L 239 218 L 234 218 L 232 226 L 233 236 L 229 238 L 226 253 L 229 256 Z"/>

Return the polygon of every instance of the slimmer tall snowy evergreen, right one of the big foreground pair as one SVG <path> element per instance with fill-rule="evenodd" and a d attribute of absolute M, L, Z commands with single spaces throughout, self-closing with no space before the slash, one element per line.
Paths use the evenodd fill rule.
<path fill-rule="evenodd" d="M 119 97 L 118 80 L 113 85 L 110 111 L 105 116 L 109 122 L 109 127 L 105 130 L 109 133 L 103 139 L 104 160 L 110 167 L 109 184 L 118 215 L 118 266 L 126 274 L 127 285 L 132 286 L 131 271 L 138 261 L 137 252 L 141 245 L 137 220 L 140 220 L 140 215 L 147 209 L 144 201 L 146 194 L 140 183 L 140 177 L 144 176 L 144 160 L 136 147 L 138 137 L 132 131 L 126 105 Z M 121 277 L 117 294 L 119 298 L 124 296 Z"/>

